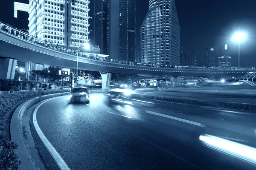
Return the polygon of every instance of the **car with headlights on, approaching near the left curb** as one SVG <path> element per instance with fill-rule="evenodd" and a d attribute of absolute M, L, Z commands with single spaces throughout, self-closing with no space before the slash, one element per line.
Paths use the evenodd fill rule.
<path fill-rule="evenodd" d="M 89 89 L 86 87 L 72 88 L 71 93 L 67 96 L 67 101 L 90 103 Z"/>

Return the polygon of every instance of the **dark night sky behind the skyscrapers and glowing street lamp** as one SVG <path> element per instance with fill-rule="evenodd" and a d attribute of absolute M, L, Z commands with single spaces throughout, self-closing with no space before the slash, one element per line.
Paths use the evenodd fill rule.
<path fill-rule="evenodd" d="M 0 20 L 13 24 L 14 0 L 2 0 Z M 16 0 L 29 3 L 29 0 Z M 195 50 L 198 62 L 204 62 L 204 48 L 228 44 L 232 66 L 238 65 L 237 31 L 247 33 L 241 42 L 240 66 L 256 66 L 256 0 L 175 0 L 181 30 L 181 42 L 188 52 Z M 140 26 L 148 11 L 148 0 L 137 0 L 137 48 Z"/>

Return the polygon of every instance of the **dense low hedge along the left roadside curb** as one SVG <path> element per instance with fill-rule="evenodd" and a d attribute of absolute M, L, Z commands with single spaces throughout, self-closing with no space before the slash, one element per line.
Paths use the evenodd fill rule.
<path fill-rule="evenodd" d="M 43 95 L 70 92 L 69 89 L 44 90 Z M 37 91 L 23 91 L 0 95 L 0 170 L 17 170 L 21 161 L 18 159 L 15 149 L 17 144 L 8 137 L 9 122 L 12 112 L 26 100 L 37 96 Z"/>

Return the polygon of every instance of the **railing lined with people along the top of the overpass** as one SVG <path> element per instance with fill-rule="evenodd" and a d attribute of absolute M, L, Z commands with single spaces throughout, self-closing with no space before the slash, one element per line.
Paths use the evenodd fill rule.
<path fill-rule="evenodd" d="M 54 49 L 56 51 L 60 51 L 66 54 L 71 55 L 77 55 L 77 50 L 65 48 L 60 45 L 53 44 L 52 42 L 48 42 L 46 40 L 40 40 L 37 37 L 31 36 L 23 31 L 18 30 L 17 28 L 14 28 L 10 26 L 9 24 L 3 23 L 0 21 L 0 30 L 6 31 L 9 34 L 15 35 L 15 37 L 23 40 L 27 40 L 33 43 L 36 43 L 38 45 L 42 45 L 47 48 Z M 102 58 L 97 57 L 95 55 L 88 55 L 88 53 L 85 53 L 83 51 L 80 51 L 78 53 L 79 57 L 84 57 L 88 59 L 96 59 L 101 60 L 105 62 L 113 62 L 118 64 L 124 64 L 124 65 L 137 65 L 137 66 L 143 66 L 143 67 L 151 67 L 151 68 L 169 68 L 174 70 L 198 70 L 198 71 L 256 71 L 256 67 L 204 67 L 204 66 L 175 66 L 175 65 L 157 65 L 157 64 L 145 64 L 140 62 L 128 62 L 128 61 L 118 61 L 116 59 L 108 59 L 108 58 Z"/>

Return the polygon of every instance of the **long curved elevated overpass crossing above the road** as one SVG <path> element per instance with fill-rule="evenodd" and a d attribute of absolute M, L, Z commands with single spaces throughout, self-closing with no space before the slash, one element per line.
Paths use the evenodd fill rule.
<path fill-rule="evenodd" d="M 64 68 L 76 68 L 76 51 L 57 45 L 49 47 L 39 43 L 29 34 L 23 33 L 11 26 L 0 23 L 0 56 L 25 62 L 46 64 Z M 125 65 L 114 62 L 89 59 L 79 53 L 78 68 L 81 70 L 99 71 L 105 73 L 129 73 L 146 75 L 170 75 L 170 76 L 242 76 L 252 70 L 195 70 L 180 68 L 157 68 L 139 65 Z M 12 62 L 14 63 L 14 62 Z M 8 71 L 10 68 L 9 62 Z M 15 67 L 15 66 L 14 66 Z M 5 77 L 8 71 L 1 71 L 0 77 Z M 109 76 L 108 76 L 109 77 Z M 110 81 L 110 80 L 109 80 Z"/>

